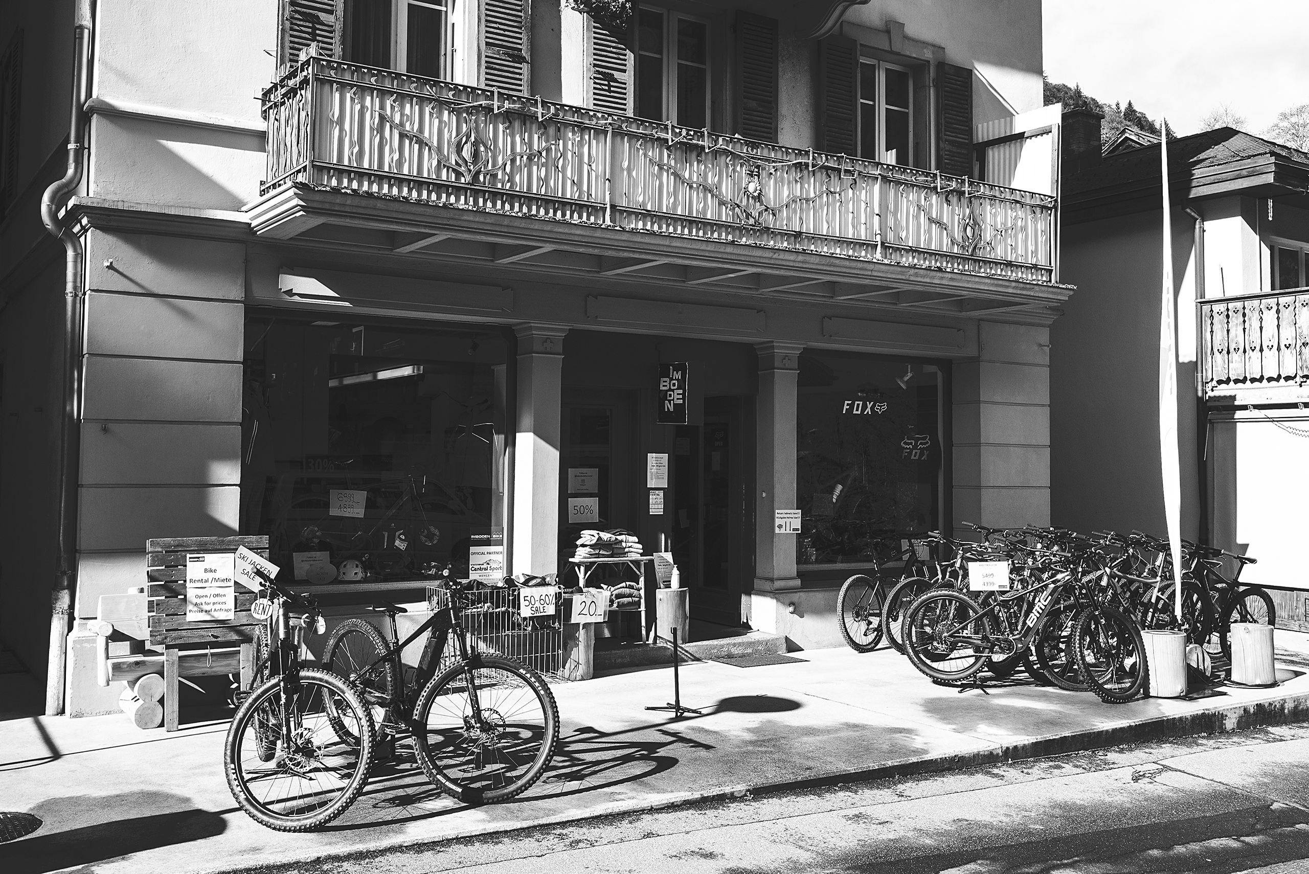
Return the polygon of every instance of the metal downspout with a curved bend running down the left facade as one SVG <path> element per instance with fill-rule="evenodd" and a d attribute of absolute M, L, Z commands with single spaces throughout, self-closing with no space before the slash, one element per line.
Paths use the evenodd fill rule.
<path fill-rule="evenodd" d="M 64 670 L 72 597 L 77 581 L 77 458 L 81 398 L 82 245 L 77 233 L 63 224 L 59 204 L 81 184 L 85 166 L 88 67 L 90 46 L 90 0 L 79 0 L 73 25 L 73 93 L 68 119 L 68 169 L 41 198 L 41 221 L 64 245 L 64 369 L 63 407 L 59 423 L 59 557 L 50 593 L 50 661 L 46 667 L 46 716 L 64 712 Z"/>

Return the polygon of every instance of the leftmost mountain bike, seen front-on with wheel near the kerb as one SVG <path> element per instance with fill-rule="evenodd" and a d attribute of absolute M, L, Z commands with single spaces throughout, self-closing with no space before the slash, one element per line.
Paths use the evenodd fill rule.
<path fill-rule="evenodd" d="M 251 606 L 267 620 L 257 686 L 228 727 L 224 772 L 232 797 L 260 826 L 301 832 L 326 826 L 359 798 L 373 759 L 373 720 L 357 692 L 327 671 L 302 667 L 300 652 L 322 618 L 264 578 Z M 258 682 L 262 679 L 262 682 Z"/>

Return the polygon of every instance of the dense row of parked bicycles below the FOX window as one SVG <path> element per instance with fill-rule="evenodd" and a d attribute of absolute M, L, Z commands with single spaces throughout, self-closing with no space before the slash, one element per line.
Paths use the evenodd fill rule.
<path fill-rule="evenodd" d="M 1276 621 L 1268 593 L 1240 581 L 1255 561 L 1247 556 L 1183 540 L 1178 618 L 1166 540 L 967 527 L 978 542 L 933 531 L 902 540 L 899 560 L 876 574 L 847 580 L 838 595 L 846 642 L 870 652 L 885 638 L 941 683 L 978 682 L 982 671 L 1007 679 L 1021 667 L 1039 684 L 1123 703 L 1145 692 L 1143 629 L 1182 629 L 1187 644 L 1230 657 L 1232 623 Z"/>

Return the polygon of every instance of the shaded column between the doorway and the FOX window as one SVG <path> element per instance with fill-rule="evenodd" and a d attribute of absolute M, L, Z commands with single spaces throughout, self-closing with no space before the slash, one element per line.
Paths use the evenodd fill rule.
<path fill-rule="evenodd" d="M 796 536 L 774 530 L 774 510 L 796 509 L 796 386 L 798 343 L 757 343 L 759 395 L 757 415 L 754 587 L 798 589 Z"/>

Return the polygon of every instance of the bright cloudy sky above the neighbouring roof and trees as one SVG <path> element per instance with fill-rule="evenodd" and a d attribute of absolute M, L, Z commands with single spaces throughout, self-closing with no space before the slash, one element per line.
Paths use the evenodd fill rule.
<path fill-rule="evenodd" d="M 1179 135 L 1227 103 L 1261 133 L 1309 103 L 1309 0 L 1041 0 L 1045 68 Z"/>

